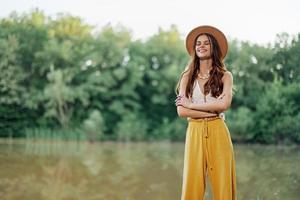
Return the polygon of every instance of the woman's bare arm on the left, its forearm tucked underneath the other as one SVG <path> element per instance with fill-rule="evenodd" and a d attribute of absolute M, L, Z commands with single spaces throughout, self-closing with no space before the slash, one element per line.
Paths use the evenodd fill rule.
<path fill-rule="evenodd" d="M 185 95 L 185 87 L 187 84 L 187 73 L 182 76 L 179 87 L 179 95 Z M 177 106 L 177 114 L 179 117 L 191 117 L 191 118 L 200 118 L 200 117 L 209 117 L 216 116 L 215 113 L 205 112 L 200 110 L 189 109 L 183 106 Z"/>

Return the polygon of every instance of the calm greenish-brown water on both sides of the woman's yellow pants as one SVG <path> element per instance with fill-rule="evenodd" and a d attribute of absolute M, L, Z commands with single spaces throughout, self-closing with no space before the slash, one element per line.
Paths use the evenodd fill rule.
<path fill-rule="evenodd" d="M 239 200 L 300 199 L 299 147 L 234 150 Z M 184 143 L 1 141 L 0 199 L 179 200 L 183 154 Z"/>

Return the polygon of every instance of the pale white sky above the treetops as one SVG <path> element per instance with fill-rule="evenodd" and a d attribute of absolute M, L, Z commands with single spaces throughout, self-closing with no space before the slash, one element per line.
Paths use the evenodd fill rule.
<path fill-rule="evenodd" d="M 39 8 L 46 15 L 80 16 L 99 29 L 121 24 L 134 39 L 175 24 L 182 38 L 199 25 L 212 25 L 228 38 L 267 44 L 276 34 L 300 33 L 299 0 L 0 0 L 0 17 Z"/>

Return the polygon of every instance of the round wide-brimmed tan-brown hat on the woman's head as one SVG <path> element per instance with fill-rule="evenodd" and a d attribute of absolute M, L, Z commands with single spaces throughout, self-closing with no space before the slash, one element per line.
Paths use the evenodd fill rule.
<path fill-rule="evenodd" d="M 186 40 L 185 40 L 185 45 L 186 45 L 186 49 L 187 49 L 188 53 L 190 55 L 193 54 L 193 52 L 195 50 L 194 42 L 195 42 L 196 38 L 202 33 L 211 34 L 212 36 L 214 36 L 216 38 L 216 40 L 218 41 L 218 44 L 220 46 L 220 50 L 221 50 L 221 59 L 223 60 L 225 58 L 225 56 L 227 54 L 227 50 L 228 50 L 227 39 L 226 39 L 224 33 L 222 33 L 219 29 L 217 29 L 213 26 L 207 26 L 207 25 L 198 26 L 189 32 L 189 34 L 187 35 Z"/>

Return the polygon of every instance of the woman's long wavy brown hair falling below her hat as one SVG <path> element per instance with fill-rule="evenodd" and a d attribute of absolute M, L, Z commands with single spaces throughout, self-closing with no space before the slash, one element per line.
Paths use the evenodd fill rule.
<path fill-rule="evenodd" d="M 200 35 L 206 35 L 210 41 L 211 45 L 211 55 L 212 55 L 212 69 L 210 70 L 210 76 L 208 81 L 204 85 L 204 95 L 209 94 L 211 92 L 211 95 L 213 97 L 218 97 L 222 91 L 223 91 L 223 83 L 222 83 L 222 77 L 224 73 L 226 72 L 226 68 L 224 63 L 221 61 L 221 49 L 217 42 L 217 40 L 208 33 L 202 33 Z M 196 40 L 200 36 L 198 35 L 194 42 L 194 49 L 196 45 Z M 196 52 L 194 51 L 194 54 L 192 55 L 192 58 L 187 65 L 186 69 L 181 73 L 179 81 L 176 86 L 176 94 L 179 93 L 179 87 L 180 87 L 180 81 L 184 74 L 188 73 L 188 82 L 185 88 L 185 96 L 187 98 L 191 97 L 193 95 L 193 85 L 196 81 L 197 75 L 200 72 L 200 58 L 196 55 Z"/>

